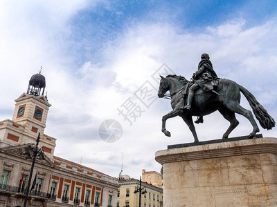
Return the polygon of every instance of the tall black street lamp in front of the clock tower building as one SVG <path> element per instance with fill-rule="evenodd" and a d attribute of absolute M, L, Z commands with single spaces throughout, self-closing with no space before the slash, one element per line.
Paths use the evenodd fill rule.
<path fill-rule="evenodd" d="M 40 135 L 40 132 L 39 132 L 39 135 Z M 30 190 L 30 181 L 31 181 L 32 175 L 33 175 L 35 160 L 37 159 L 37 157 L 38 157 L 38 159 L 41 159 L 41 160 L 45 159 L 42 148 L 38 149 L 39 139 L 40 139 L 39 135 L 37 136 L 37 144 L 35 145 L 35 149 L 33 149 L 29 146 L 28 149 L 26 150 L 25 154 L 24 154 L 26 156 L 26 159 L 32 159 L 32 156 L 30 155 L 30 152 L 33 153 L 33 162 L 32 162 L 32 167 L 30 168 L 30 177 L 29 177 L 29 180 L 28 180 L 28 186 L 27 186 L 26 196 L 25 196 L 25 200 L 24 200 L 24 207 L 26 207 L 26 204 L 27 204 L 27 201 L 28 201 L 28 193 L 29 193 L 29 190 Z"/>

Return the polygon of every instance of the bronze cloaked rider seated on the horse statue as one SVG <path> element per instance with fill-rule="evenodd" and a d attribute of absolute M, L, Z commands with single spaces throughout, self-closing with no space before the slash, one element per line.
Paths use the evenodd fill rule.
<path fill-rule="evenodd" d="M 202 88 L 204 91 L 213 90 L 215 86 L 215 79 L 218 79 L 218 77 L 215 70 L 213 70 L 213 64 L 210 61 L 210 57 L 207 53 L 203 53 L 201 55 L 201 61 L 198 65 L 198 70 L 193 74 L 194 84 L 188 90 L 188 102 L 186 106 L 184 106 L 184 109 L 190 110 L 195 91 L 198 88 Z M 203 117 L 199 117 L 199 119 L 195 121 L 197 124 L 202 122 Z"/>

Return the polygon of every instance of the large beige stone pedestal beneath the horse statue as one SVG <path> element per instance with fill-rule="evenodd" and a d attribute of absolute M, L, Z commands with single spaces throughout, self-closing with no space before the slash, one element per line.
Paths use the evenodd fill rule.
<path fill-rule="evenodd" d="M 164 207 L 277 206 L 276 138 L 171 148 L 155 157 Z"/>

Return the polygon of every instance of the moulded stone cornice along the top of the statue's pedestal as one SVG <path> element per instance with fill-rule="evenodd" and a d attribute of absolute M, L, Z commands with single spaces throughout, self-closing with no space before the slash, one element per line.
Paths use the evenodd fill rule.
<path fill-rule="evenodd" d="M 230 157 L 235 155 L 251 155 L 256 153 L 272 153 L 277 155 L 277 139 L 273 137 L 226 141 L 215 144 L 189 146 L 159 150 L 155 159 L 163 165 L 175 161 Z"/>

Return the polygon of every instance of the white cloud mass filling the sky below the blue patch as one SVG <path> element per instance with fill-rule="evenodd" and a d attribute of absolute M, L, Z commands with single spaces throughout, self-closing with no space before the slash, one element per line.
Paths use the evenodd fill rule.
<path fill-rule="evenodd" d="M 146 108 L 134 92 L 145 81 L 152 81 L 151 75 L 162 63 L 190 79 L 202 52 L 210 54 L 220 77 L 234 79 L 249 89 L 277 117 L 276 21 L 247 28 L 246 21 L 234 20 L 207 26 L 202 33 L 180 30 L 169 23 L 137 23 L 103 47 L 101 61 L 86 61 L 76 68 L 62 50 L 69 42 L 61 40 L 69 37 L 69 19 L 88 6 L 88 1 L 28 1 L 15 9 L 7 2 L 0 6 L 5 10 L 0 14 L 5 19 L 0 23 L 0 86 L 5 89 L 0 90 L 0 117 L 12 117 L 13 100 L 26 91 L 30 76 L 42 65 L 48 100 L 53 105 L 46 133 L 57 138 L 55 155 L 64 159 L 79 162 L 83 156 L 83 164 L 117 176 L 124 152 L 124 174 L 139 177 L 142 168 L 159 171 L 154 152 L 170 144 L 191 142 L 193 136 L 180 117 L 168 120 L 172 137 L 164 136 L 161 117 L 171 110 L 170 101 L 157 99 Z M 12 17 L 12 13 L 17 14 Z M 129 97 L 145 110 L 133 126 L 117 110 Z M 242 105 L 250 108 L 245 99 Z M 123 126 L 123 137 L 114 144 L 97 137 L 105 119 L 117 119 Z M 249 121 L 241 116 L 238 119 L 240 125 L 231 137 L 251 132 Z M 196 128 L 199 139 L 206 140 L 219 139 L 228 126 L 228 121 L 216 112 L 204 117 L 204 124 Z M 275 130 L 261 132 L 274 136 Z"/>

